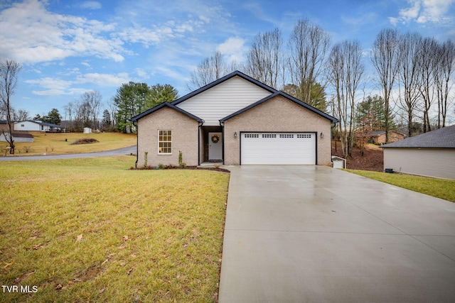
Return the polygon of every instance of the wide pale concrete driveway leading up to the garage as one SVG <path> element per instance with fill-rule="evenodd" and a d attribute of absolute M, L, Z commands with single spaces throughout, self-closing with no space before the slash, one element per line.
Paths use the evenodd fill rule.
<path fill-rule="evenodd" d="M 455 302 L 455 203 L 329 167 L 227 168 L 219 302 Z"/>

